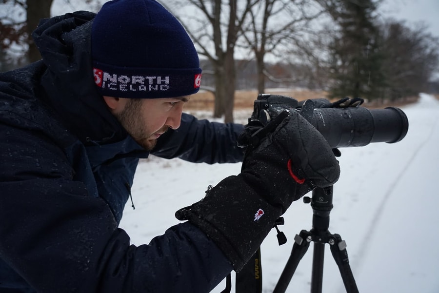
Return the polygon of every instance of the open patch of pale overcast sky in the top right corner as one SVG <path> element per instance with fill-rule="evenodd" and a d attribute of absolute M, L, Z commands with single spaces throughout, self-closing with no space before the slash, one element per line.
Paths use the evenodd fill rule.
<path fill-rule="evenodd" d="M 423 21 L 439 37 L 439 0 L 384 0 L 380 8 L 384 16 L 406 20 L 409 26 Z"/>

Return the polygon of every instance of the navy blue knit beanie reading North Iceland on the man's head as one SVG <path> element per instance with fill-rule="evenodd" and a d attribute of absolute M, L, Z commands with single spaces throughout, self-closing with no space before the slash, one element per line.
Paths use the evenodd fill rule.
<path fill-rule="evenodd" d="M 175 98 L 200 89 L 192 40 L 155 0 L 106 2 L 93 21 L 91 53 L 102 96 Z"/>

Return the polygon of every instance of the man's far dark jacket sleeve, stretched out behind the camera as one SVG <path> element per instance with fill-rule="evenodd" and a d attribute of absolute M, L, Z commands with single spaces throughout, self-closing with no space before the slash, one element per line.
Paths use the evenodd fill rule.
<path fill-rule="evenodd" d="M 237 146 L 237 139 L 243 130 L 242 124 L 199 120 L 183 113 L 180 127 L 160 137 L 152 154 L 208 164 L 241 162 L 244 149 Z"/>

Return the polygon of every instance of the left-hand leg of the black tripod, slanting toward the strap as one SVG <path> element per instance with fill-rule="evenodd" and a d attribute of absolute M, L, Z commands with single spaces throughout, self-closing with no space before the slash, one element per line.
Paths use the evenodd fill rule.
<path fill-rule="evenodd" d="M 291 255 L 288 258 L 288 261 L 283 269 L 282 274 L 279 277 L 279 281 L 276 284 L 276 287 L 273 293 L 284 293 L 288 287 L 288 284 L 293 277 L 294 272 L 299 265 L 300 259 L 302 259 L 303 255 L 305 255 L 306 251 L 309 248 L 309 243 L 311 242 L 311 234 L 306 231 L 300 231 L 299 235 L 294 237 L 293 249 L 291 250 Z"/>

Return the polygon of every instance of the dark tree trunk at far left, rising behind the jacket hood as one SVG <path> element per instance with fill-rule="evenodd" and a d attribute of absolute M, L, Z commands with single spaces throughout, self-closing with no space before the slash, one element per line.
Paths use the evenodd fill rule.
<path fill-rule="evenodd" d="M 41 59 L 40 52 L 32 39 L 32 32 L 37 28 L 40 19 L 50 17 L 50 7 L 53 0 L 27 0 L 27 34 L 29 41 L 29 51 L 27 53 L 29 62 L 35 62 Z"/>

